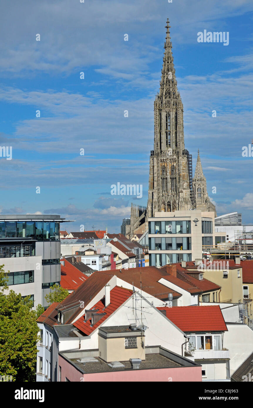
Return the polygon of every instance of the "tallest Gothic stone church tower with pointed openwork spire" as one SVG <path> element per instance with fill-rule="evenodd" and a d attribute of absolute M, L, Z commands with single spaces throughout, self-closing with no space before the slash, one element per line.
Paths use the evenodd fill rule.
<path fill-rule="evenodd" d="M 149 166 L 148 217 L 153 217 L 156 211 L 191 208 L 183 104 L 175 78 L 168 19 L 165 28 L 162 78 L 154 102 L 155 134 Z"/>

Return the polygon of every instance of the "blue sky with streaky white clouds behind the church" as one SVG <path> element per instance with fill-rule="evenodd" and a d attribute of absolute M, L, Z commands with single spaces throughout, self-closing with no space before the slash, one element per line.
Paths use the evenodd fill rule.
<path fill-rule="evenodd" d="M 131 201 L 146 205 L 169 17 L 193 168 L 200 149 L 218 215 L 253 222 L 253 157 L 242 157 L 253 139 L 251 0 L 24 0 L 2 2 L 0 15 L 0 146 L 13 149 L 12 160 L 0 157 L 1 214 L 60 214 L 76 220 L 68 231 L 120 232 Z M 198 43 L 205 29 L 229 31 L 229 45 Z M 142 199 L 112 196 L 117 182 L 142 184 Z"/>

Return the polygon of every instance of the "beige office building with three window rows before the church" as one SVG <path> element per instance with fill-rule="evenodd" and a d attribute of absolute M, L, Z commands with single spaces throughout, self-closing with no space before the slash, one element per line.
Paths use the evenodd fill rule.
<path fill-rule="evenodd" d="M 202 259 L 202 246 L 215 245 L 214 211 L 185 210 L 155 213 L 149 218 L 149 265 Z"/>

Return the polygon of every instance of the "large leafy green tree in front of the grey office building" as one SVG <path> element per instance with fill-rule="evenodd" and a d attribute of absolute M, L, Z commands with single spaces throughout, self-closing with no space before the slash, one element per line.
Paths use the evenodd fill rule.
<path fill-rule="evenodd" d="M 35 381 L 38 325 L 29 296 L 9 290 L 7 274 L 0 266 L 0 375 L 12 381 Z"/>

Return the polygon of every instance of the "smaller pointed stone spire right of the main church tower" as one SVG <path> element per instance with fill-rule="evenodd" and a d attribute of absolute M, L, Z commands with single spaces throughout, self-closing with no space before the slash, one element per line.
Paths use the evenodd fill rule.
<path fill-rule="evenodd" d="M 200 151 L 198 150 L 198 158 L 196 163 L 195 175 L 193 177 L 193 206 L 197 210 L 201 211 L 214 211 L 215 217 L 216 208 L 213 203 L 211 203 L 210 198 L 206 191 L 206 177 L 204 176 L 202 165 L 200 161 Z"/>

